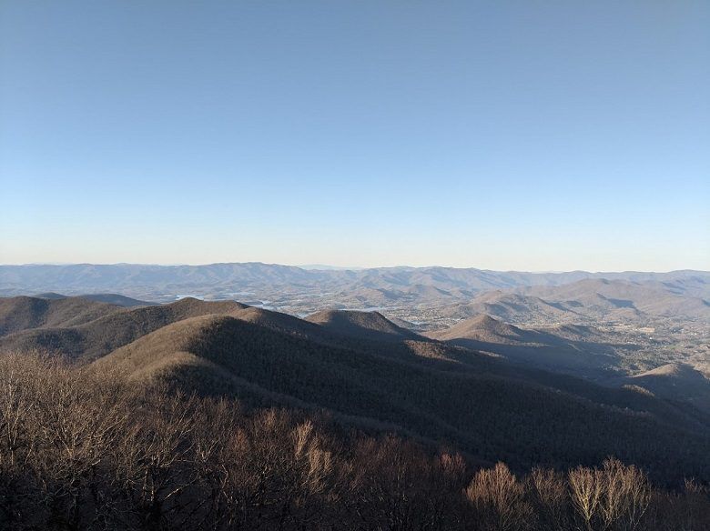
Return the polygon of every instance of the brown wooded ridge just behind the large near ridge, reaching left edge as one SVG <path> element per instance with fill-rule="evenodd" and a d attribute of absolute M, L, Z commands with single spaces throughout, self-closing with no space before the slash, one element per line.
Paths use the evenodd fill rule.
<path fill-rule="evenodd" d="M 119 346 L 127 345 L 140 336 L 182 319 L 204 315 L 234 316 L 240 320 L 265 326 L 291 336 L 307 338 L 324 345 L 357 345 L 367 349 L 371 341 L 401 341 L 426 338 L 393 325 L 380 314 L 342 312 L 346 318 L 337 318 L 322 325 L 311 323 L 295 316 L 245 306 L 234 301 L 201 301 L 183 298 L 175 303 L 160 306 L 121 308 L 101 305 L 85 297 L 64 297 L 46 301 L 32 297 L 14 297 L 14 304 L 6 304 L 5 321 L 11 333 L 0 337 L 0 347 L 22 351 L 47 349 L 75 359 L 91 360 L 104 356 Z M 0 299 L 12 301 L 13 299 Z M 29 312 L 26 308 L 44 308 L 44 313 Z M 65 308 L 66 311 L 52 314 L 50 320 L 29 318 L 49 314 L 47 307 Z M 96 308 L 103 312 L 94 311 Z M 352 314 L 352 319 L 348 315 Z M 17 326 L 20 323 L 22 326 Z M 72 326 L 78 323 L 77 326 Z M 335 325 L 335 326 L 333 326 Z M 16 330 L 16 331 L 15 331 Z M 12 333 L 15 331 L 15 333 Z M 361 345 L 365 342 L 365 345 Z M 411 348 L 403 343 L 393 345 L 392 356 L 408 356 Z"/>

